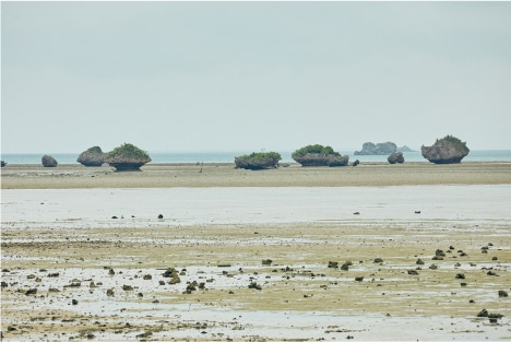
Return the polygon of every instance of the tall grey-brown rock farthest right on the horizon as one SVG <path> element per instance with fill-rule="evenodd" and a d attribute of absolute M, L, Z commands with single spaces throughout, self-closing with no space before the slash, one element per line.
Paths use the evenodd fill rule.
<path fill-rule="evenodd" d="M 435 164 L 454 164 L 460 163 L 466 155 L 468 155 L 468 148 L 465 142 L 460 139 L 447 135 L 435 142 L 432 146 L 420 148 L 423 156 Z"/>

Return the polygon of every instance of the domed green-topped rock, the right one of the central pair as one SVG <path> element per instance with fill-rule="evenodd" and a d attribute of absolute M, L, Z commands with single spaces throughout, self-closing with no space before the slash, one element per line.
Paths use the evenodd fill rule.
<path fill-rule="evenodd" d="M 349 156 L 341 155 L 338 152 L 333 151 L 331 146 L 319 144 L 296 150 L 293 152 L 292 157 L 301 166 L 346 166 L 349 161 Z"/>

